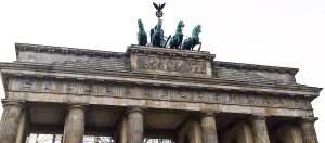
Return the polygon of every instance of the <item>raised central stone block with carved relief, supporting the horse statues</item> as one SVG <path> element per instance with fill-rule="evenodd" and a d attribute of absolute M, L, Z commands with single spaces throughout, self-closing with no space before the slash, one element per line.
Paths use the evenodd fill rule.
<path fill-rule="evenodd" d="M 179 52 L 176 49 L 128 48 L 131 69 L 141 73 L 174 76 L 211 77 L 211 61 L 214 55 L 209 52 Z"/>

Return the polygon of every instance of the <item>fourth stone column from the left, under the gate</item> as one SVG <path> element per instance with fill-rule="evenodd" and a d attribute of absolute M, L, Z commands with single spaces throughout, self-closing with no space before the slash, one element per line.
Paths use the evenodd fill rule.
<path fill-rule="evenodd" d="M 214 113 L 207 112 L 200 115 L 203 143 L 218 143 Z"/>

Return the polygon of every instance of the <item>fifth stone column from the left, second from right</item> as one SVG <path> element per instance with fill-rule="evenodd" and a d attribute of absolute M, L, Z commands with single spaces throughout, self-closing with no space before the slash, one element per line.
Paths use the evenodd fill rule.
<path fill-rule="evenodd" d="M 255 143 L 270 143 L 265 116 L 252 116 L 252 134 Z"/>

